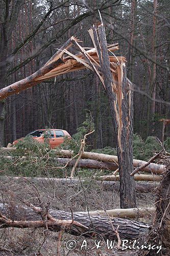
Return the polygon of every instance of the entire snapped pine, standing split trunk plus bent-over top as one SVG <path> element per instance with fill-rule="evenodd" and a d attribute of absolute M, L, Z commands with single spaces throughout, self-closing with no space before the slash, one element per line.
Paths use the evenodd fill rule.
<path fill-rule="evenodd" d="M 94 48 L 86 51 L 77 38 L 71 37 L 37 72 L 1 89 L 0 100 L 61 74 L 82 69 L 95 72 L 106 90 L 114 125 L 120 174 L 120 207 L 133 208 L 136 206 L 135 181 L 134 177 L 130 177 L 133 171 L 133 104 L 132 91 L 127 90 L 127 86 L 131 88 L 132 84 L 126 76 L 126 60 L 114 55 L 118 44 L 107 45 L 103 24 L 98 28 L 93 26 L 89 34 Z M 70 46 L 78 49 L 78 53 L 68 51 Z"/>

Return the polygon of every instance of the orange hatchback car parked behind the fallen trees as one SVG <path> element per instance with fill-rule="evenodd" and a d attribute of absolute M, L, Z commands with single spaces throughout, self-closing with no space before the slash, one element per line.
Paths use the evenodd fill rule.
<path fill-rule="evenodd" d="M 47 141 L 52 148 L 55 148 L 60 144 L 62 144 L 64 142 L 65 136 L 67 136 L 68 138 L 71 138 L 71 136 L 67 131 L 60 130 L 60 129 L 36 130 L 34 132 L 27 134 L 26 137 L 27 136 L 32 136 L 33 139 L 37 140 L 40 143 Z M 16 145 L 18 141 L 22 139 L 23 138 L 17 139 L 12 144 Z"/>

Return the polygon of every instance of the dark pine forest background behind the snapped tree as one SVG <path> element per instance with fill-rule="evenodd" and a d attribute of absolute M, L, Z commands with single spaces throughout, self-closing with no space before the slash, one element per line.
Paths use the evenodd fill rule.
<path fill-rule="evenodd" d="M 100 20 L 98 9 L 107 42 L 118 42 L 116 55 L 126 57 L 127 76 L 134 83 L 134 133 L 144 140 L 161 138 L 159 119 L 170 118 L 170 104 L 164 102 L 170 98 L 167 0 L 1 1 L 0 86 L 37 71 L 72 35 L 84 47 L 92 47 L 87 31 Z M 107 96 L 89 70 L 61 75 L 1 102 L 1 143 L 7 145 L 44 127 L 73 135 L 85 120 L 86 110 L 95 124 L 93 148 L 114 146 Z M 168 136 L 170 127 L 166 126 Z"/>

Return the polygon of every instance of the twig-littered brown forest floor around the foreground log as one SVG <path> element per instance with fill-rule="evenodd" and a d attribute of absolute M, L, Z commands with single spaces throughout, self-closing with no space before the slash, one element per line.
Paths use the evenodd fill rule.
<path fill-rule="evenodd" d="M 18 198 L 30 201 L 34 205 L 38 205 L 37 191 L 42 204 L 48 205 L 49 208 L 70 211 L 85 211 L 97 209 L 115 209 L 119 208 L 119 194 L 116 191 L 104 191 L 99 183 L 91 181 L 86 185 L 80 184 L 59 185 L 54 181 L 29 182 L 28 180 L 18 180 L 12 182 L 9 179 L 1 179 L 3 187 L 8 191 L 13 191 Z M 10 193 L 9 193 L 10 194 Z M 155 195 L 152 193 L 141 194 L 137 193 L 137 206 L 150 207 L 154 205 Z M 1 201 L 8 201 L 10 198 L 5 198 L 3 189 L 1 191 Z M 14 202 L 15 203 L 15 202 Z M 18 203 L 18 199 L 16 199 Z M 137 220 L 137 219 L 136 219 Z M 140 218 L 140 221 L 152 223 L 153 215 Z M 101 242 L 102 247 L 96 249 L 94 240 L 86 238 L 87 250 L 85 246 L 81 250 L 84 237 L 75 237 L 64 233 L 61 239 L 60 254 L 57 252 L 58 233 L 48 230 L 44 232 L 43 228 L 34 229 L 17 229 L 5 228 L 0 230 L 0 255 L 125 255 L 121 250 L 108 250 L 104 241 Z M 77 248 L 68 250 L 66 243 L 69 240 L 76 240 Z M 134 251 L 129 251 L 128 255 Z"/>

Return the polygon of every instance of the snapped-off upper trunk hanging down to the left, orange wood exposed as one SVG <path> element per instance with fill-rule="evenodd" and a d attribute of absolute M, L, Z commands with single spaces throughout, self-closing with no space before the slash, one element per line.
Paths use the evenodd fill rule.
<path fill-rule="evenodd" d="M 48 60 L 45 65 L 40 68 L 37 72 L 32 74 L 31 76 L 17 81 L 10 86 L 7 86 L 0 90 L 0 100 L 7 98 L 10 95 L 19 93 L 23 90 L 26 90 L 36 84 L 56 77 L 61 74 L 65 74 L 72 71 L 78 71 L 82 69 L 91 69 L 90 65 L 87 63 L 85 59 L 83 59 L 83 55 L 72 54 L 68 51 L 68 48 L 78 42 L 79 40 L 76 39 L 74 36 L 70 37 L 65 44 L 60 48 L 60 50 L 55 53 L 50 60 Z M 109 45 L 109 51 L 118 50 L 118 44 Z M 96 63 L 98 61 L 98 56 L 96 56 L 96 52 L 94 48 L 91 48 L 87 51 L 88 55 L 92 56 L 93 61 Z M 111 56 L 110 61 L 122 61 L 125 59 L 124 57 L 119 56 Z"/>

